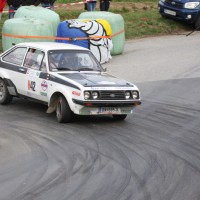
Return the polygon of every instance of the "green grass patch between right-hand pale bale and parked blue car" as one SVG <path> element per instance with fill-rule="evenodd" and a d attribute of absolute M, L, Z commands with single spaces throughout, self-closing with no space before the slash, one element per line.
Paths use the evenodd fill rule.
<path fill-rule="evenodd" d="M 124 12 L 125 34 L 127 39 L 147 36 L 174 34 L 190 31 L 191 26 L 170 19 L 163 19 L 157 10 L 135 10 Z"/>

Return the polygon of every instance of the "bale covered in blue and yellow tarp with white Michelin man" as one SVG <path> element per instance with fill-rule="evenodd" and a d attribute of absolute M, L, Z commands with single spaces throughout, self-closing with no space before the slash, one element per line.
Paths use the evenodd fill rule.
<path fill-rule="evenodd" d="M 100 63 L 105 63 L 111 59 L 110 51 L 113 47 L 109 38 L 111 34 L 111 26 L 106 20 L 67 20 L 59 23 L 57 37 L 71 38 L 71 40 L 63 39 L 57 42 L 88 48 Z"/>

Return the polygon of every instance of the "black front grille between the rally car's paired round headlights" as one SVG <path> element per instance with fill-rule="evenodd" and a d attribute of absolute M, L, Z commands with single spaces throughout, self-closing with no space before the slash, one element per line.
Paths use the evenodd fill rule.
<path fill-rule="evenodd" d="M 124 100 L 125 93 L 124 91 L 100 91 L 101 100 Z"/>

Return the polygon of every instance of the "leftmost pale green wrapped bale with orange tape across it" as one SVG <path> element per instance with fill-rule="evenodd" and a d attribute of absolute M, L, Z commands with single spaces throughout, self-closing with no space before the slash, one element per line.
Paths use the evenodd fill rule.
<path fill-rule="evenodd" d="M 25 36 L 25 38 L 20 38 Z M 49 42 L 49 39 L 33 39 L 31 36 L 51 36 L 53 37 L 53 27 L 49 21 L 33 18 L 13 18 L 6 20 L 2 28 L 3 50 L 12 47 L 13 44 L 21 42 Z"/>

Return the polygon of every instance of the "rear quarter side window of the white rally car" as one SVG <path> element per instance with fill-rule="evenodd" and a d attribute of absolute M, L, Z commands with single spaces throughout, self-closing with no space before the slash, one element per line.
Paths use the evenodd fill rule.
<path fill-rule="evenodd" d="M 21 65 L 26 53 L 25 47 L 19 47 L 14 49 L 13 51 L 9 52 L 7 55 L 3 57 L 3 61 Z"/>

